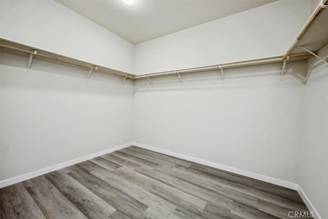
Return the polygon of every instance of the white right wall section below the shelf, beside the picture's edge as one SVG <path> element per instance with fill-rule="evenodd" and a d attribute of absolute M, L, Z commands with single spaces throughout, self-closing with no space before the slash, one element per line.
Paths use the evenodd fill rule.
<path fill-rule="evenodd" d="M 318 55 L 328 59 L 328 46 Z M 328 68 L 310 58 L 311 75 L 305 86 L 298 184 L 321 218 L 328 218 Z"/>

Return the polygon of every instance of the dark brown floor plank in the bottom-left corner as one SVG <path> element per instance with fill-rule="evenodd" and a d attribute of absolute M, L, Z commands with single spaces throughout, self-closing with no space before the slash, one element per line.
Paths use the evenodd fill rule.
<path fill-rule="evenodd" d="M 0 218 L 46 218 L 22 183 L 0 190 Z"/>

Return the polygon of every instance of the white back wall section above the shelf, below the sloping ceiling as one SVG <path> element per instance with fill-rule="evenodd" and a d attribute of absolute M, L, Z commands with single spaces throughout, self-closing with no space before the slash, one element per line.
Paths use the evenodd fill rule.
<path fill-rule="evenodd" d="M 310 1 L 280 0 L 138 44 L 135 73 L 283 55 L 310 14 Z"/>

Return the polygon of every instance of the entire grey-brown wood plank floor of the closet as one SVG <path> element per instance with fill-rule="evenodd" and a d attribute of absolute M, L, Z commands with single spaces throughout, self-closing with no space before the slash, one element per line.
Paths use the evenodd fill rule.
<path fill-rule="evenodd" d="M 308 211 L 294 190 L 134 146 L 0 195 L 1 218 L 253 219 Z"/>

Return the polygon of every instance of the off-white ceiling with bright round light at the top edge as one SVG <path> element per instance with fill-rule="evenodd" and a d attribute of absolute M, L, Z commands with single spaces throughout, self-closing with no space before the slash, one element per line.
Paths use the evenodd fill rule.
<path fill-rule="evenodd" d="M 277 0 L 55 0 L 138 44 Z"/>

